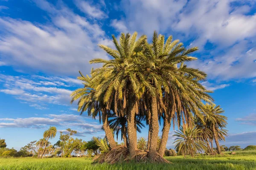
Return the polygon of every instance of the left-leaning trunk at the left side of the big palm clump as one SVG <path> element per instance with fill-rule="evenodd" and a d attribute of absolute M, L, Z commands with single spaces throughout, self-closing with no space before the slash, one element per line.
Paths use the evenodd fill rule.
<path fill-rule="evenodd" d="M 105 109 L 102 109 L 102 122 L 103 122 L 103 129 L 105 130 L 105 134 L 108 139 L 108 143 L 112 149 L 113 147 L 116 147 L 116 142 L 115 142 L 113 133 L 109 127 L 108 115 Z"/>

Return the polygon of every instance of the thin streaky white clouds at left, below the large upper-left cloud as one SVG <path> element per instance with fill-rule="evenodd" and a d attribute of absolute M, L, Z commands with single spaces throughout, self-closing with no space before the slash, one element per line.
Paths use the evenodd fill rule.
<path fill-rule="evenodd" d="M 81 81 L 69 77 L 15 77 L 3 74 L 0 74 L 0 84 L 3 84 L 0 92 L 14 95 L 16 99 L 26 101 L 37 109 L 46 109 L 47 104 L 70 105 L 72 91 L 67 87 L 82 86 Z"/>

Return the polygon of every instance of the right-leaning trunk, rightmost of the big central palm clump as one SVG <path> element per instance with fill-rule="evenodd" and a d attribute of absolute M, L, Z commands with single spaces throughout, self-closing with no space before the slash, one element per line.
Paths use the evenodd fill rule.
<path fill-rule="evenodd" d="M 158 150 L 158 153 L 161 156 L 164 155 L 164 150 L 166 148 L 166 144 L 168 141 L 169 130 L 171 127 L 171 122 L 168 119 L 169 119 L 168 116 L 166 116 L 165 119 L 163 120 L 163 133 L 162 133 L 162 138 L 161 138 L 161 142 L 160 142 L 160 147 Z"/>

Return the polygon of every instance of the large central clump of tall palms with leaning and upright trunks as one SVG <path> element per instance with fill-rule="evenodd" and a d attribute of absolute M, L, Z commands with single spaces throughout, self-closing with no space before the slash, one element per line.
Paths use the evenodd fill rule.
<path fill-rule="evenodd" d="M 197 59 L 190 54 L 198 48 L 186 49 L 179 40 L 172 36 L 165 40 L 156 31 L 151 43 L 145 35 L 137 38 L 137 32 L 122 33 L 119 42 L 112 38 L 115 49 L 99 45 L 111 59 L 90 60 L 102 64 L 90 75 L 79 71 L 84 87 L 71 94 L 71 103 L 79 100 L 81 114 L 99 116 L 110 150 L 116 147 L 114 134 L 121 134 L 130 159 L 139 147 L 155 161 L 157 155 L 164 155 L 171 122 L 180 127 L 192 125 L 194 117 L 203 121 L 204 102 L 213 101 L 211 91 L 201 85 L 207 74 L 184 64 Z M 163 133 L 158 140 L 160 120 Z M 149 127 L 147 147 L 137 144 L 137 131 L 145 127 L 141 122 Z"/>

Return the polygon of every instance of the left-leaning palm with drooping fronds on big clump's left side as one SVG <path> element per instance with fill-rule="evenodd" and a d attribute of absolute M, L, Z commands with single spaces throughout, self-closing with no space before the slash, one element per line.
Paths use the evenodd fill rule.
<path fill-rule="evenodd" d="M 92 81 L 92 78 L 90 78 L 88 75 L 85 77 L 80 71 L 79 71 L 81 77 L 77 77 L 77 79 L 83 81 L 84 88 L 79 88 L 74 91 L 71 96 L 73 96 L 73 99 L 71 100 L 71 104 L 79 99 L 78 102 L 78 111 L 81 112 L 81 114 L 87 110 L 88 116 L 93 116 L 95 119 L 96 116 L 99 113 L 99 122 L 103 122 L 103 130 L 105 130 L 105 134 L 107 136 L 108 143 L 110 144 L 110 147 L 116 147 L 116 142 L 113 137 L 113 133 L 109 127 L 108 122 L 108 114 L 107 114 L 107 106 L 103 102 L 103 96 L 96 98 L 95 96 L 95 88 L 98 85 L 97 81 Z M 100 114 L 101 112 L 101 114 Z"/>

